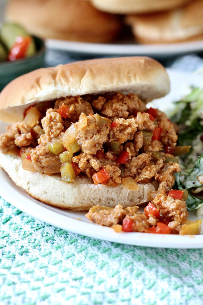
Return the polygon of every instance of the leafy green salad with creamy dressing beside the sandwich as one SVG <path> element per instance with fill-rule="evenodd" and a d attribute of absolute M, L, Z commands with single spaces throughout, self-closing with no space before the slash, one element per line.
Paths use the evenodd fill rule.
<path fill-rule="evenodd" d="M 203 88 L 191 87 L 175 106 L 170 120 L 179 128 L 177 145 L 191 145 L 191 149 L 180 157 L 181 172 L 175 174 L 173 188 L 187 189 L 187 209 L 198 209 L 199 216 L 203 214 Z"/>

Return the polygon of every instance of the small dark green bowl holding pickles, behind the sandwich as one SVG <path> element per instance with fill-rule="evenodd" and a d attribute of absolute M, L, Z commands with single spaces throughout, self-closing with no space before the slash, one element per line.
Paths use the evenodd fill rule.
<path fill-rule="evenodd" d="M 0 91 L 14 78 L 44 67 L 44 41 L 37 37 L 33 38 L 37 47 L 37 53 L 34 56 L 0 63 Z"/>

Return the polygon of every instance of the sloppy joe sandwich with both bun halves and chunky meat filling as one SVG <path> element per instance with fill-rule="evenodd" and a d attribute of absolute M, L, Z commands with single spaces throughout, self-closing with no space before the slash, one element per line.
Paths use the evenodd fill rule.
<path fill-rule="evenodd" d="M 0 94 L 0 165 L 32 197 L 71 210 L 168 193 L 177 135 L 146 103 L 169 92 L 148 57 L 92 59 L 18 77 Z"/>

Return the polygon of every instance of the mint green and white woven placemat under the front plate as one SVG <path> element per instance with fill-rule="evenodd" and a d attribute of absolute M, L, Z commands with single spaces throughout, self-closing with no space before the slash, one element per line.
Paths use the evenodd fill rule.
<path fill-rule="evenodd" d="M 203 304 L 203 250 L 120 245 L 0 198 L 0 304 Z"/>

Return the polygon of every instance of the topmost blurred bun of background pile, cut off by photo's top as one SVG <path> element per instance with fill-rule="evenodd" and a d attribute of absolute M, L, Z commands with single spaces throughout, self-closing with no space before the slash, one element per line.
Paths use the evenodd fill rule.
<path fill-rule="evenodd" d="M 149 13 L 174 9 L 189 0 L 91 0 L 92 4 L 104 12 L 129 14 Z"/>

